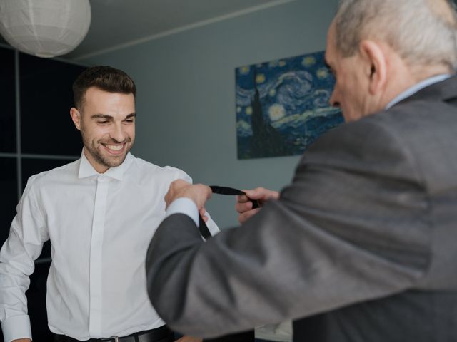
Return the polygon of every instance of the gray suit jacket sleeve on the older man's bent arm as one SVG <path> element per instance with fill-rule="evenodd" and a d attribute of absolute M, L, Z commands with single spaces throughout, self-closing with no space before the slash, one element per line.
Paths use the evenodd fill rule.
<path fill-rule="evenodd" d="M 172 328 L 212 337 L 396 294 L 426 273 L 431 228 L 420 170 L 391 128 L 366 118 L 323 135 L 278 201 L 201 242 L 160 225 L 146 260 Z"/>

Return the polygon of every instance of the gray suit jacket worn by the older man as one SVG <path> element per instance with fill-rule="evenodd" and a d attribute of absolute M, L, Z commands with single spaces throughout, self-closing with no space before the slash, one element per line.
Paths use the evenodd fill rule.
<path fill-rule="evenodd" d="M 295 341 L 457 341 L 457 78 L 323 135 L 241 227 L 204 243 L 168 217 L 146 269 L 194 336 L 293 318 Z"/>

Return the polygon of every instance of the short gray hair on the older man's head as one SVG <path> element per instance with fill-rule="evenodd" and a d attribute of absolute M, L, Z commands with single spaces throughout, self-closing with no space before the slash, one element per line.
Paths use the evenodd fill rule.
<path fill-rule="evenodd" d="M 362 39 L 378 38 L 411 65 L 457 68 L 457 14 L 449 0 L 340 0 L 334 22 L 343 57 Z"/>

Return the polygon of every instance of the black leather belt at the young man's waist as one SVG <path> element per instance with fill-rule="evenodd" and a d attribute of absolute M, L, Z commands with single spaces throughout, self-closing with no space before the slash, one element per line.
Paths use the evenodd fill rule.
<path fill-rule="evenodd" d="M 76 338 L 65 335 L 55 335 L 55 342 L 80 342 Z M 167 326 L 161 326 L 152 330 L 132 333 L 128 336 L 109 337 L 109 338 L 91 338 L 87 342 L 171 342 L 174 341 L 174 332 Z"/>

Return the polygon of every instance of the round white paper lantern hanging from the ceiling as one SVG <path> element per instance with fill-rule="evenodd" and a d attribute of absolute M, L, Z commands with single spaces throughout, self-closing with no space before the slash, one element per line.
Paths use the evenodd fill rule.
<path fill-rule="evenodd" d="M 0 33 L 19 51 L 39 57 L 69 53 L 91 24 L 89 0 L 0 0 Z"/>

